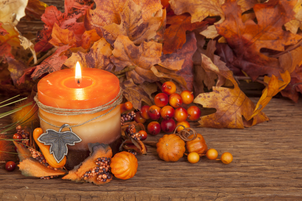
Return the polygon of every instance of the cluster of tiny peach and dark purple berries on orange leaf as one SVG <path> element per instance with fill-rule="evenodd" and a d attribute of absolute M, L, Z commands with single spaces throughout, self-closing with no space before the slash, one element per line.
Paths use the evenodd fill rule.
<path fill-rule="evenodd" d="M 107 179 L 111 178 L 111 168 L 110 168 L 111 158 L 101 157 L 97 158 L 95 164 L 98 165 L 82 175 L 82 179 L 87 180 L 97 176 L 99 182 L 105 182 Z"/>

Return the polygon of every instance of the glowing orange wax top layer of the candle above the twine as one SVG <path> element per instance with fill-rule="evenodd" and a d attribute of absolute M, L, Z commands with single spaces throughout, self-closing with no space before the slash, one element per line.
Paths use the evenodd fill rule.
<path fill-rule="evenodd" d="M 47 106 L 89 109 L 109 103 L 120 91 L 120 82 L 111 72 L 82 68 L 80 84 L 75 68 L 59 70 L 38 82 L 38 99 Z"/>

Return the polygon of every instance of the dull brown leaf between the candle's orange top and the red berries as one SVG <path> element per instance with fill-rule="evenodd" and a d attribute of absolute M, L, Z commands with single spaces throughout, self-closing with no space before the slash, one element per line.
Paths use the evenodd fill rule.
<path fill-rule="evenodd" d="M 134 84 L 132 79 L 128 79 L 121 83 L 121 87 L 124 90 L 125 98 L 133 104 L 133 108 L 140 110 L 142 107 L 142 101 L 148 105 L 153 105 L 149 95 L 143 88 Z"/>

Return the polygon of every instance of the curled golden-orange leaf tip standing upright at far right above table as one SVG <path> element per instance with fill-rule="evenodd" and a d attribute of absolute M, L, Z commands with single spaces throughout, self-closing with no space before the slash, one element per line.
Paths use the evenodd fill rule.
<path fill-rule="evenodd" d="M 279 80 L 278 77 L 272 75 L 271 77 L 265 76 L 264 82 L 267 84 L 265 89 L 262 91 L 262 95 L 256 104 L 254 113 L 248 117 L 246 120 L 252 119 L 255 115 L 257 115 L 267 104 L 273 96 L 275 96 L 278 92 L 283 90 L 288 83 L 291 81 L 291 76 L 288 71 L 284 73 L 280 73 L 282 80 Z"/>

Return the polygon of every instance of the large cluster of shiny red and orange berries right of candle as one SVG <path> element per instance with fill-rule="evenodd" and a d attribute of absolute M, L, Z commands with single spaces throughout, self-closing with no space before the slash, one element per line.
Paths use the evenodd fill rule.
<path fill-rule="evenodd" d="M 154 120 L 147 126 L 147 130 L 151 135 L 157 135 L 161 130 L 173 132 L 178 125 L 188 128 L 190 124 L 187 119 L 196 121 L 201 115 L 200 109 L 195 105 L 188 107 L 188 109 L 185 108 L 193 100 L 194 96 L 191 91 L 185 90 L 178 94 L 176 93 L 176 85 L 171 81 L 167 81 L 162 84 L 162 93 L 155 95 L 155 105 L 144 105 L 136 113 L 134 120 L 137 123 L 145 123 L 147 119 Z M 161 120 L 161 123 L 159 123 L 159 120 Z M 183 129 L 183 127 L 178 128 L 177 132 Z"/>

